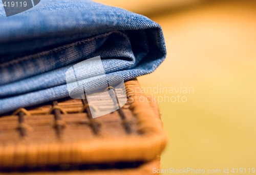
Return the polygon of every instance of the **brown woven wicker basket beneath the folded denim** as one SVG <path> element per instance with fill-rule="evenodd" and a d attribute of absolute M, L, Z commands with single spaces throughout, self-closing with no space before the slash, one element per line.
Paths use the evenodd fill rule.
<path fill-rule="evenodd" d="M 158 106 L 137 80 L 125 82 L 125 116 L 98 118 L 79 99 L 61 99 L 0 117 L 0 172 L 152 174 L 166 133 Z"/>

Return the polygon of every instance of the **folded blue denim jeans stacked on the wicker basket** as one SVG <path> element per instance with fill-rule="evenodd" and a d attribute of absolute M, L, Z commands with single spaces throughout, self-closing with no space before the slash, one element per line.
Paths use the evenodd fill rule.
<path fill-rule="evenodd" d="M 100 56 L 105 73 L 129 80 L 154 71 L 165 55 L 159 24 L 123 9 L 42 0 L 6 17 L 0 7 L 0 113 L 69 96 L 65 72 L 88 58 Z"/>

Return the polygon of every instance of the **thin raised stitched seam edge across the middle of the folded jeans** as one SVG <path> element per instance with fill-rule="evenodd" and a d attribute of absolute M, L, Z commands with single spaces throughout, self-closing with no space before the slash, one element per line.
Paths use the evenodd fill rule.
<path fill-rule="evenodd" d="M 92 38 L 83 39 L 81 41 L 77 41 L 77 42 L 73 42 L 71 44 L 67 44 L 67 45 L 57 47 L 57 48 L 53 48 L 50 51 L 44 51 L 44 52 L 33 54 L 33 55 L 30 55 L 30 56 L 17 58 L 16 60 L 0 64 L 0 67 L 10 66 L 10 65 L 18 64 L 19 62 L 28 61 L 28 60 L 33 59 L 33 58 L 38 58 L 38 57 L 47 56 L 47 55 L 50 55 L 50 54 L 53 54 L 53 53 L 58 53 L 58 52 L 63 51 L 67 48 L 71 48 L 71 47 L 74 47 L 74 46 L 77 46 L 77 45 L 81 45 L 81 44 L 84 44 L 86 42 L 95 41 L 96 39 L 104 38 L 104 37 L 110 36 L 111 34 L 114 34 L 114 33 L 116 33 L 116 34 L 118 34 L 122 37 L 127 37 L 125 34 L 123 34 L 120 31 L 108 32 L 108 33 L 105 33 L 105 34 L 97 35 L 97 36 L 92 37 Z"/>

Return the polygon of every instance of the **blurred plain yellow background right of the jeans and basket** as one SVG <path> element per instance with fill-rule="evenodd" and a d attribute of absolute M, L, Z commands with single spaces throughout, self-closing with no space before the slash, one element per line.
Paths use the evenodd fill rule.
<path fill-rule="evenodd" d="M 142 13 L 163 28 L 166 60 L 139 78 L 142 87 L 158 89 L 169 134 L 161 168 L 256 168 L 256 1 L 97 2 Z"/>

